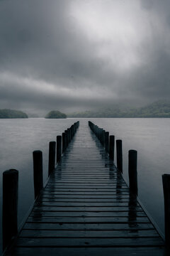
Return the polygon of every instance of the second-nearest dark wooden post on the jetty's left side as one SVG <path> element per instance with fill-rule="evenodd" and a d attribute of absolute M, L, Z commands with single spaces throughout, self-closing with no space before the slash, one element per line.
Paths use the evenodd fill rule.
<path fill-rule="evenodd" d="M 34 177 L 34 196 L 39 196 L 43 188 L 43 174 L 42 174 L 42 151 L 33 151 L 33 177 Z"/>

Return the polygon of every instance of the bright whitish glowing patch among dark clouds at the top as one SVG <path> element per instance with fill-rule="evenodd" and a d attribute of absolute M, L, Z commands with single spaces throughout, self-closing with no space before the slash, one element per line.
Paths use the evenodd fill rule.
<path fill-rule="evenodd" d="M 89 41 L 96 43 L 98 55 L 110 60 L 115 69 L 142 65 L 140 44 L 148 38 L 150 25 L 140 1 L 76 0 L 71 14 Z"/>

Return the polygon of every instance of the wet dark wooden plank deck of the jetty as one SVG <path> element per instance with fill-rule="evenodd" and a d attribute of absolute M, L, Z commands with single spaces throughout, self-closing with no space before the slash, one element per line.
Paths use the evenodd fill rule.
<path fill-rule="evenodd" d="M 86 124 L 80 125 L 6 255 L 166 253 L 164 240 Z"/>

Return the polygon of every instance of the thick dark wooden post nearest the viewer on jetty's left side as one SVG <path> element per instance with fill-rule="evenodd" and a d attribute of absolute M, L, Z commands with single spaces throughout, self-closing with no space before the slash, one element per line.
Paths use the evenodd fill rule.
<path fill-rule="evenodd" d="M 3 173 L 3 250 L 18 233 L 18 171 Z"/>

